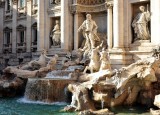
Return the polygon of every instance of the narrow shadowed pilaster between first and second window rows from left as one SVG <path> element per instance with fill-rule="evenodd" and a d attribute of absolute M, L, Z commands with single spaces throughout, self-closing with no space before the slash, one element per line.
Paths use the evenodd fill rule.
<path fill-rule="evenodd" d="M 12 6 L 12 53 L 16 53 L 17 47 L 17 1 Z"/>

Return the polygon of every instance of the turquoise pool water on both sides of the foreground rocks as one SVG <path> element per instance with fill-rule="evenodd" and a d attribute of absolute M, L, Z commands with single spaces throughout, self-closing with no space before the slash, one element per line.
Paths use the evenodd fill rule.
<path fill-rule="evenodd" d="M 76 115 L 60 112 L 66 103 L 45 104 L 27 101 L 24 98 L 0 98 L 0 115 Z M 116 115 L 150 115 L 149 108 L 144 106 L 120 106 L 112 108 Z"/>

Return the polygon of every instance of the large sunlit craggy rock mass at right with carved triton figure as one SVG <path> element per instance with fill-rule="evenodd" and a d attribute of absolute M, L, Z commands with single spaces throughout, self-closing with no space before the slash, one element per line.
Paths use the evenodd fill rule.
<path fill-rule="evenodd" d="M 152 83 L 157 81 L 160 60 L 154 57 L 139 60 L 119 70 L 102 70 L 84 74 L 79 82 L 70 84 L 72 102 L 65 110 L 91 110 L 118 105 L 133 105 L 151 93 Z M 146 98 L 152 98 L 149 95 Z M 142 103 L 143 104 L 143 103 Z M 148 103 L 147 103 L 148 104 Z"/>

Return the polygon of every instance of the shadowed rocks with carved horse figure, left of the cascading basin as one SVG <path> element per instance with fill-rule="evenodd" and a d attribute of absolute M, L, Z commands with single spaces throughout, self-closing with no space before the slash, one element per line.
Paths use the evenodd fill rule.
<path fill-rule="evenodd" d="M 48 64 L 46 64 L 46 58 L 50 59 Z M 49 71 L 55 69 L 57 58 L 58 55 L 47 57 L 43 50 L 38 60 L 33 60 L 22 67 L 6 67 L 0 79 L 0 96 L 15 96 L 17 92 L 23 95 L 27 79 L 46 77 Z"/>

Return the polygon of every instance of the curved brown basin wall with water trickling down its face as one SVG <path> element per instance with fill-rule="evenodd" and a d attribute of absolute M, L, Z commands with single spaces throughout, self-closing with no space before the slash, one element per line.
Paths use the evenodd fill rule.
<path fill-rule="evenodd" d="M 25 98 L 47 103 L 69 102 L 69 94 L 66 87 L 74 82 L 74 80 L 62 78 L 29 78 Z"/>

